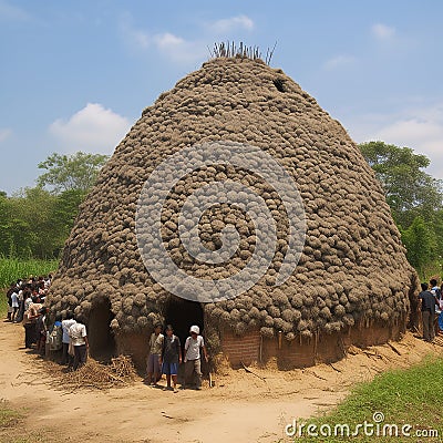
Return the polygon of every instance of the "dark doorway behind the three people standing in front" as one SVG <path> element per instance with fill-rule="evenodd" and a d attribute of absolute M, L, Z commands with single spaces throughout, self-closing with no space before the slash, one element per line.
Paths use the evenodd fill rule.
<path fill-rule="evenodd" d="M 172 296 L 165 309 L 166 324 L 172 324 L 174 333 L 179 338 L 182 349 L 189 337 L 189 328 L 196 324 L 203 333 L 204 316 L 202 303 Z"/>

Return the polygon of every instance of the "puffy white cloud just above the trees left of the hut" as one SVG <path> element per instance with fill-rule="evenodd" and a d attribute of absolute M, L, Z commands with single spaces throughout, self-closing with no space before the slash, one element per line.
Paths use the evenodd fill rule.
<path fill-rule="evenodd" d="M 59 119 L 49 133 L 68 152 L 111 153 L 130 130 L 127 119 L 99 103 L 87 103 L 68 121 Z"/>

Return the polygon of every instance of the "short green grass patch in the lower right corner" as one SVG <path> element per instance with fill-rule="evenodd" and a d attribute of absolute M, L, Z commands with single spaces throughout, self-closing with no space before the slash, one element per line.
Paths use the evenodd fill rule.
<path fill-rule="evenodd" d="M 420 365 L 408 370 L 395 370 L 387 372 L 372 382 L 358 385 L 347 400 L 332 412 L 315 420 L 298 420 L 297 423 L 306 423 L 302 436 L 297 433 L 293 440 L 297 442 L 323 442 L 338 443 L 342 441 L 357 442 L 399 442 L 399 441 L 420 441 L 420 442 L 442 442 L 443 441 L 443 421 L 441 401 L 443 399 L 443 358 L 427 359 Z M 378 414 L 378 415 L 375 415 Z M 381 415 L 382 414 L 382 415 Z M 383 420 L 381 420 L 383 419 Z M 377 425 L 379 421 L 379 426 Z M 349 425 L 354 432 L 358 424 L 364 425 L 359 429 L 356 436 L 347 436 L 347 429 L 341 431 L 336 425 Z M 311 424 L 311 431 L 318 435 L 308 436 L 307 426 Z M 371 424 L 373 427 L 371 427 Z M 313 427 L 317 426 L 316 429 Z M 395 426 L 392 431 L 388 425 L 396 425 L 399 430 L 395 435 Z M 411 427 L 409 427 L 409 425 Z M 323 426 L 323 427 L 320 427 Z M 383 435 L 383 426 L 384 435 Z M 410 436 L 402 433 L 404 432 Z M 293 427 L 293 426 L 292 426 Z M 292 427 L 288 432 L 293 432 Z M 299 432 L 299 427 L 297 432 Z M 321 434 L 331 433 L 331 436 Z M 435 435 L 435 432 L 437 435 Z M 393 434 L 390 434 L 393 432 Z M 420 435 L 419 435 L 420 433 Z M 344 436 L 342 436 L 344 435 Z M 379 436 L 377 436 L 379 435 Z"/>

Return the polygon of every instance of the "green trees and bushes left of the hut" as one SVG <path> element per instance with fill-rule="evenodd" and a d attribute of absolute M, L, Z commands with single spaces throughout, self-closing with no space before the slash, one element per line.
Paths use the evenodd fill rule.
<path fill-rule="evenodd" d="M 39 165 L 45 173 L 37 187 L 11 197 L 0 192 L 0 256 L 56 258 L 106 159 L 105 155 L 81 152 L 52 154 Z"/>

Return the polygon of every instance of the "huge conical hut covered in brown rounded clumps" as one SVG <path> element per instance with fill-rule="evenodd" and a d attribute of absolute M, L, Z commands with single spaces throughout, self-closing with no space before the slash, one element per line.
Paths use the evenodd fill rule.
<path fill-rule="evenodd" d="M 202 302 L 193 300 L 193 288 L 177 297 L 146 269 L 158 245 L 137 239 L 136 216 L 145 183 L 162 163 L 212 143 L 225 152 L 254 146 L 276 159 L 297 185 L 306 237 L 297 266 L 276 285 L 290 220 L 275 186 L 236 165 L 190 165 L 161 213 L 162 247 L 177 268 L 197 279 L 226 279 L 257 247 L 254 220 L 238 205 L 219 202 L 202 213 L 198 240 L 217 250 L 231 225 L 235 253 L 206 264 L 186 250 L 179 214 L 199 187 L 237 181 L 261 197 L 276 225 L 266 272 L 235 297 Z M 155 322 L 174 323 L 182 337 L 196 323 L 212 354 L 223 353 L 233 365 L 276 359 L 290 368 L 338 360 L 350 344 L 398 339 L 416 287 L 380 184 L 341 124 L 281 70 L 231 56 L 204 63 L 163 93 L 115 148 L 81 206 L 49 303 L 52 311 L 86 317 L 92 354 L 123 352 L 143 365 Z"/>

